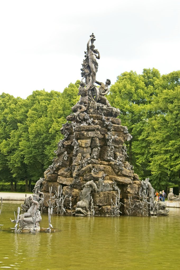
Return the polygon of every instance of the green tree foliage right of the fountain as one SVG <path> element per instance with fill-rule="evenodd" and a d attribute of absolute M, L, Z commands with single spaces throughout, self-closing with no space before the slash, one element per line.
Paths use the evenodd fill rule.
<path fill-rule="evenodd" d="M 133 136 L 127 144 L 130 163 L 140 178 L 150 177 L 155 188 L 180 181 L 179 85 L 180 71 L 162 76 L 154 68 L 141 75 L 124 72 L 108 97 Z"/>

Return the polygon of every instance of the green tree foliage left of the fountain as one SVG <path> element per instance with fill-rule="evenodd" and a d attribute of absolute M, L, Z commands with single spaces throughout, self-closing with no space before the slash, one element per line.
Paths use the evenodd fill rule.
<path fill-rule="evenodd" d="M 17 183 L 43 176 L 51 164 L 62 124 L 77 102 L 80 81 L 63 93 L 33 91 L 27 99 L 0 96 L 0 180 Z"/>

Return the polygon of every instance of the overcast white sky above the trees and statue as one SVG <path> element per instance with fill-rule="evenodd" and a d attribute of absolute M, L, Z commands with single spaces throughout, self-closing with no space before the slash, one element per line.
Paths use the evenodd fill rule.
<path fill-rule="evenodd" d="M 0 94 L 62 92 L 81 79 L 92 32 L 101 82 L 130 70 L 180 69 L 179 0 L 2 0 L 0 25 Z"/>

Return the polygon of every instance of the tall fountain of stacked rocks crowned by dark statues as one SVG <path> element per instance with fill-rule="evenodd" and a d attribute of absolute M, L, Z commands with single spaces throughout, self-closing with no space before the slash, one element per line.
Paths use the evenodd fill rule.
<path fill-rule="evenodd" d="M 147 189 L 146 214 L 150 214 L 153 188 L 149 180 L 139 181 L 133 166 L 126 161 L 125 141 L 132 136 L 117 118 L 120 110 L 110 106 L 105 97 L 110 80 L 106 83 L 96 80 L 100 53 L 94 47 L 95 40 L 92 34 L 87 42 L 78 93 L 80 100 L 61 128 L 64 139 L 58 143 L 57 157 L 39 181 L 44 206 L 48 207 L 50 188 L 53 196 L 61 185 L 66 214 L 72 214 L 73 210 L 76 215 L 89 215 L 92 200 L 95 215 L 112 215 L 115 210 L 127 215 L 130 204 L 138 207 L 140 190 Z M 139 210 L 134 211 L 135 215 L 139 213 Z"/>

